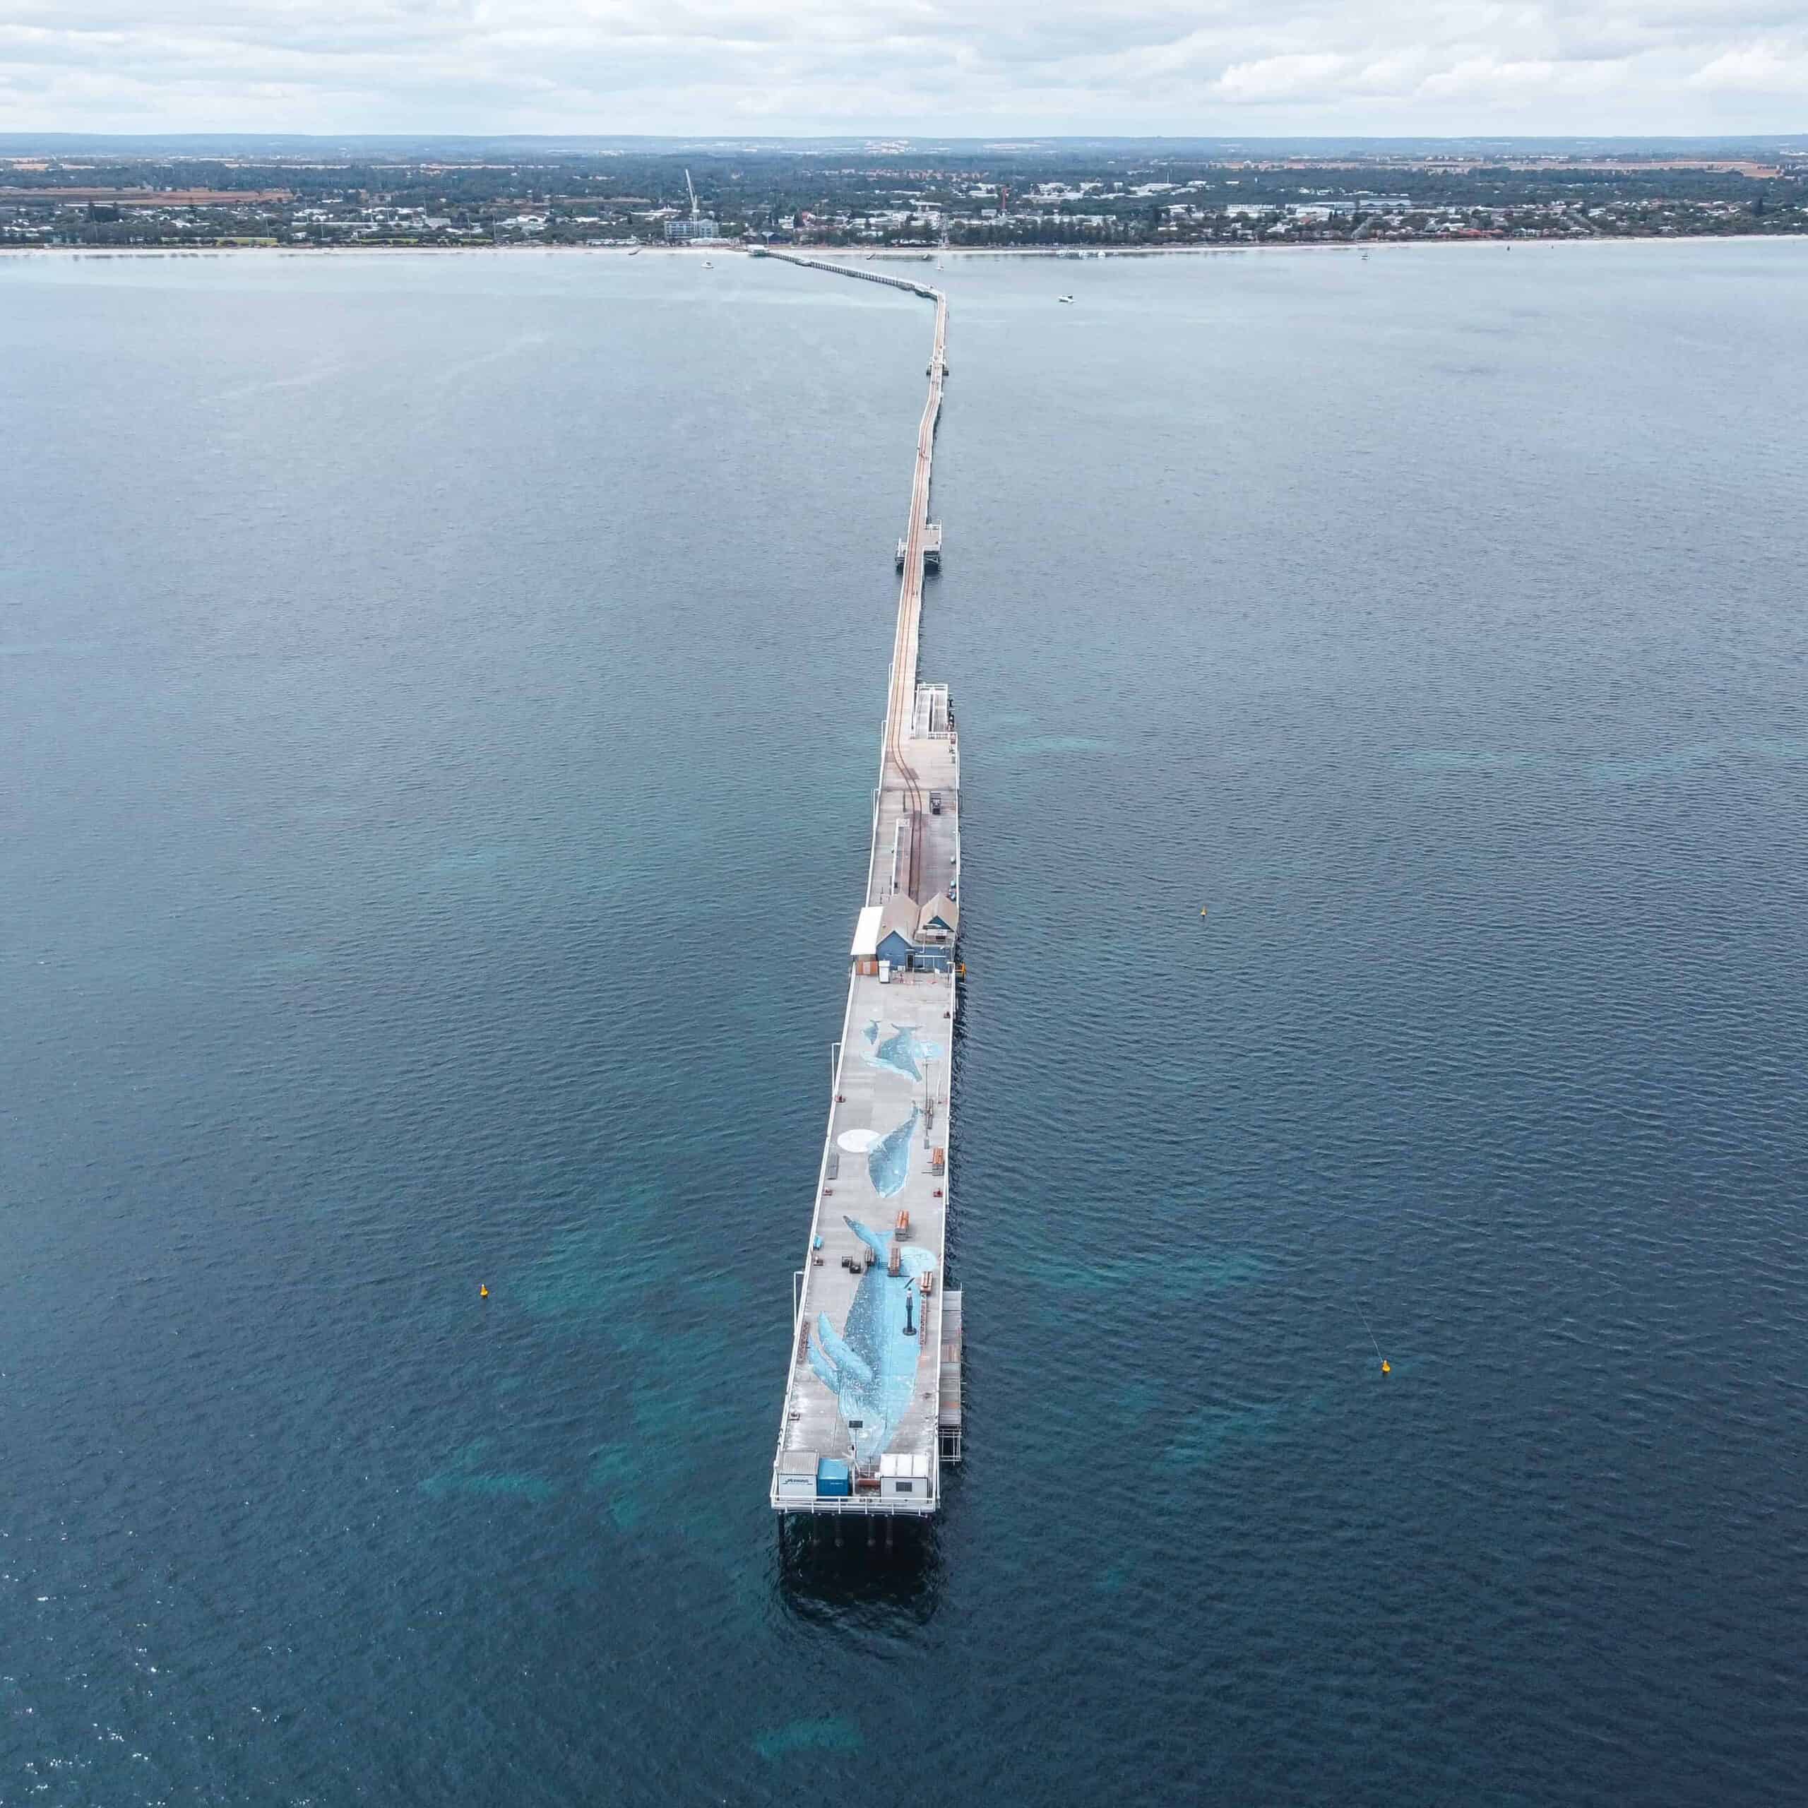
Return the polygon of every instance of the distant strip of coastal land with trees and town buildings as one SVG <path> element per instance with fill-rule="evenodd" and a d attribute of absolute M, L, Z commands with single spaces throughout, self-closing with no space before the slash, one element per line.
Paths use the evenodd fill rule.
<path fill-rule="evenodd" d="M 1553 148 L 1161 141 L 656 146 L 539 141 L 0 157 L 0 242 L 658 244 L 702 210 L 729 239 L 823 246 L 1345 242 L 1808 231 L 1808 141 Z"/>

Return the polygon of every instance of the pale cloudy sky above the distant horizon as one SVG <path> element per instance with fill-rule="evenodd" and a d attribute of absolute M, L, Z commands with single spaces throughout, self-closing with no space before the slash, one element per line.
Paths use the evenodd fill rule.
<path fill-rule="evenodd" d="M 0 0 L 0 132 L 1804 128 L 1808 0 Z"/>

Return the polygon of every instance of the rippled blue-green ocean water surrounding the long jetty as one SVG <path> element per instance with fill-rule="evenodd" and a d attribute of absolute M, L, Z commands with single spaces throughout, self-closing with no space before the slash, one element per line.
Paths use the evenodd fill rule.
<path fill-rule="evenodd" d="M 0 260 L 0 1801 L 1799 1795 L 1808 244 L 949 260 L 890 1557 L 767 1475 L 929 315 L 716 266 Z"/>

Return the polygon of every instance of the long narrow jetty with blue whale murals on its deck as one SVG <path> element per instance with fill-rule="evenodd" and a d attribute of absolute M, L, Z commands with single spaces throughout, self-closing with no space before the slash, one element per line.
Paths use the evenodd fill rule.
<path fill-rule="evenodd" d="M 848 946 L 848 1003 L 803 1267 L 772 1506 L 779 1513 L 924 1519 L 960 1461 L 962 1298 L 947 1287 L 951 1056 L 960 1011 L 960 741 L 947 685 L 922 683 L 924 571 L 935 430 L 947 374 L 947 298 L 920 282 L 785 251 L 803 269 L 935 304 L 929 394 L 899 542 L 891 676 L 873 790 L 866 895 Z"/>

